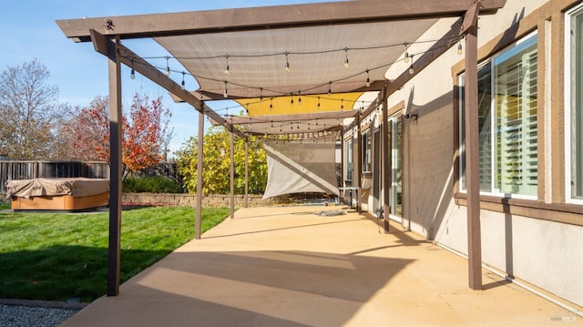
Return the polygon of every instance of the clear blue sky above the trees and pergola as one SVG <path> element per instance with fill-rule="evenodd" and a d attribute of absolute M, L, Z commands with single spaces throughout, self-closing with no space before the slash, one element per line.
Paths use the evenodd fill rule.
<path fill-rule="evenodd" d="M 0 72 L 36 58 L 50 73 L 48 83 L 58 87 L 60 103 L 87 106 L 95 97 L 108 94 L 107 58 L 97 54 L 91 43 L 76 44 L 68 39 L 56 25 L 57 19 L 330 1 L 332 0 L 0 0 Z M 168 54 L 152 40 L 127 40 L 124 45 L 140 56 Z M 122 65 L 123 104 L 129 106 L 131 97 L 136 92 L 146 94 L 150 99 L 160 96 L 163 98 L 164 106 L 172 111 L 170 126 L 174 129 L 174 135 L 169 145 L 172 157 L 172 153 L 186 140 L 197 135 L 198 112 L 187 104 L 174 103 L 165 89 L 139 74 L 136 74 L 136 79 L 130 79 L 129 69 Z M 179 67 L 172 69 L 180 70 Z M 170 77 L 177 83 L 181 82 L 179 74 Z M 230 101 L 213 101 L 207 104 L 219 112 L 224 111 L 225 107 L 236 106 Z M 237 108 L 230 110 L 236 111 Z M 209 125 L 208 122 L 205 124 Z"/>

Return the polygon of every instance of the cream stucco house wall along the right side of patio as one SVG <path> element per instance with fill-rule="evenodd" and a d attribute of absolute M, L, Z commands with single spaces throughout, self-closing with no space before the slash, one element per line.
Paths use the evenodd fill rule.
<path fill-rule="evenodd" d="M 517 22 L 527 17 L 527 22 L 534 21 L 539 27 L 547 28 L 545 38 L 538 38 L 539 53 L 541 49 L 546 51 L 544 49 L 548 49 L 549 45 L 546 43 L 550 37 L 558 37 L 557 33 L 551 34 L 549 31 L 553 28 L 561 28 L 564 21 L 554 19 L 547 23 L 540 22 L 537 9 L 547 5 L 547 8 L 550 8 L 548 10 L 559 13 L 562 10 L 560 6 L 574 4 L 577 5 L 578 2 L 507 0 L 506 6 L 496 15 L 480 17 L 478 49 L 488 43 L 491 44 L 492 40 L 498 36 L 522 33 L 520 31 L 524 31 L 526 27 L 517 28 Z M 559 16 L 553 15 L 553 17 Z M 441 37 L 454 21 L 453 19 L 440 20 L 435 24 L 435 28 L 430 29 L 420 39 Z M 543 46 L 540 46 L 540 43 Z M 410 52 L 414 53 L 414 46 Z M 555 51 L 553 56 L 560 55 L 561 52 L 562 50 Z M 404 101 L 403 114 L 418 115 L 416 120 L 404 119 L 404 214 L 402 221 L 404 229 L 422 234 L 428 240 L 435 240 L 447 248 L 467 253 L 465 200 L 462 199 L 463 197 L 456 196 L 460 193 L 456 186 L 456 180 L 459 178 L 456 168 L 458 165 L 456 133 L 458 133 L 459 122 L 456 113 L 458 108 L 455 104 L 457 100 L 453 71 L 453 67 L 459 65 L 463 58 L 464 56 L 456 53 L 456 46 L 452 47 L 401 90 L 389 97 L 388 106 Z M 547 57 L 542 60 L 555 59 L 555 57 L 552 59 Z M 405 64 L 394 65 L 387 72 L 386 77 L 393 79 L 406 70 L 406 67 Z M 547 69 L 564 69 L 564 67 L 551 65 L 547 66 Z M 540 80 L 540 77 L 541 75 L 537 80 L 539 91 L 547 92 L 546 97 L 549 99 L 550 87 L 542 87 L 541 84 L 545 81 Z M 559 81 L 550 80 L 549 82 L 558 83 Z M 555 99 L 551 99 L 538 103 L 539 119 L 547 115 L 549 110 L 557 110 L 554 101 Z M 564 138 L 556 128 L 547 129 L 545 133 L 549 135 L 549 138 Z M 542 148 L 540 143 L 539 140 L 539 147 Z M 548 154 L 540 151 L 538 156 L 548 157 Z M 543 158 L 542 162 L 549 160 L 551 158 Z M 544 168 L 539 167 L 539 172 L 542 169 Z M 564 168 L 554 167 L 553 169 Z M 560 174 L 553 176 L 560 176 Z M 543 188 L 543 191 L 539 190 L 537 200 L 532 201 L 533 208 L 537 206 L 535 202 L 548 203 L 551 199 L 546 192 L 551 188 L 549 184 L 556 181 L 548 176 L 547 179 L 547 185 L 538 186 Z M 372 203 L 372 200 L 369 198 L 367 202 Z M 482 259 L 486 265 L 505 271 L 509 276 L 526 281 L 576 306 L 583 306 L 583 281 L 581 280 L 583 276 L 583 214 L 574 213 L 575 217 L 571 217 L 570 222 L 553 221 L 552 208 L 554 207 L 552 205 L 555 203 L 556 200 L 550 201 L 551 207 L 548 208 L 551 209 L 545 211 L 545 217 L 540 215 L 528 217 L 528 214 L 513 212 L 514 209 L 499 212 L 503 210 L 490 209 L 488 204 L 483 202 L 481 209 Z M 511 205 L 508 208 L 515 207 Z M 557 212 L 558 210 L 557 207 Z M 526 209 L 520 212 L 529 211 Z"/>

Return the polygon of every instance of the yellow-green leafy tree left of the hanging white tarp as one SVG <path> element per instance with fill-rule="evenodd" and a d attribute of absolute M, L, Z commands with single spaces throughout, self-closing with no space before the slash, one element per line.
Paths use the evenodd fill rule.
<path fill-rule="evenodd" d="M 249 189 L 261 193 L 267 183 L 267 159 L 261 141 L 257 137 L 247 139 L 249 148 Z M 245 189 L 245 140 L 235 138 L 235 193 Z M 203 194 L 230 193 L 230 133 L 222 127 L 211 127 L 204 136 L 202 192 Z M 184 187 L 196 192 L 198 139 L 189 138 L 176 153 L 179 174 Z"/>

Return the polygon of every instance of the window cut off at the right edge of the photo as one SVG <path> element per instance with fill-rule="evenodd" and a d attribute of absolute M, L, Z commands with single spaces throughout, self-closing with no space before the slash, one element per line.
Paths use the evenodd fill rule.
<path fill-rule="evenodd" d="M 570 121 L 566 126 L 570 129 L 570 197 L 583 199 L 583 7 L 579 6 L 568 15 L 570 31 L 568 44 L 568 60 L 566 60 L 567 83 L 566 91 L 569 108 L 567 117 Z M 569 28 L 570 27 L 570 28 Z"/>

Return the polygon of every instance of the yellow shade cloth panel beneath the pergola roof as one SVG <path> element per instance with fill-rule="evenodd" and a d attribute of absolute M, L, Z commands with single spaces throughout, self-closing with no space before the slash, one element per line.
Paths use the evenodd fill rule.
<path fill-rule="evenodd" d="M 359 108 L 358 98 L 363 92 L 339 93 L 321 96 L 286 96 L 244 98 L 236 100 L 250 117 L 294 115 L 313 112 L 344 111 Z"/>

